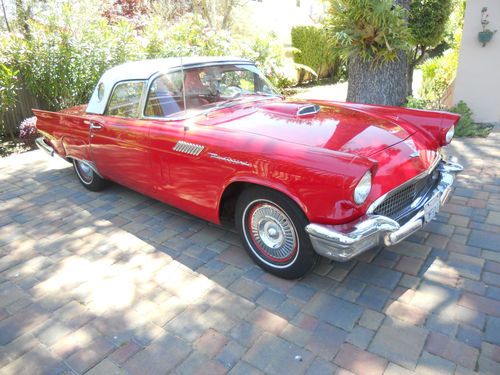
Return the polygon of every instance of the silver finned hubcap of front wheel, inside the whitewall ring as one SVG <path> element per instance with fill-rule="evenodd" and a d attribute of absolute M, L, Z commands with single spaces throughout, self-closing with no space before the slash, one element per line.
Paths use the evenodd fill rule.
<path fill-rule="evenodd" d="M 297 248 L 292 222 L 278 207 L 258 204 L 250 212 L 249 227 L 261 253 L 275 262 L 288 261 Z"/>

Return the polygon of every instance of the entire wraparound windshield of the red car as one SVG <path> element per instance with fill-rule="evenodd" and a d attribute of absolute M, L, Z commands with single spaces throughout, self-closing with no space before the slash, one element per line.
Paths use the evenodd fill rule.
<path fill-rule="evenodd" d="M 270 96 L 278 94 L 254 65 L 190 68 L 160 75 L 151 83 L 144 115 L 175 118 Z"/>

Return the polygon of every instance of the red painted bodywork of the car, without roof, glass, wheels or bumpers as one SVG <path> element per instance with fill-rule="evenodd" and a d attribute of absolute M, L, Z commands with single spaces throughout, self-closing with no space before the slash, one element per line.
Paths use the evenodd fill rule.
<path fill-rule="evenodd" d="M 380 195 L 427 169 L 459 119 L 443 112 L 312 102 L 321 111 L 300 118 L 295 113 L 304 102 L 281 99 L 183 121 L 86 115 L 84 107 L 34 112 L 39 131 L 60 156 L 91 160 L 104 177 L 215 223 L 224 190 L 238 182 L 281 191 L 311 222 L 350 222 Z M 91 132 L 90 121 L 103 129 Z M 173 151 L 181 140 L 204 149 L 198 156 Z M 413 145 L 418 157 L 411 157 Z M 369 169 L 373 187 L 357 205 L 353 190 Z"/>

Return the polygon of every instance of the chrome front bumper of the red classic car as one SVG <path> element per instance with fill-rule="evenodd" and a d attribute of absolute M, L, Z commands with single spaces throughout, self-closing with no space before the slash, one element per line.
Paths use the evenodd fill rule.
<path fill-rule="evenodd" d="M 448 200 L 455 176 L 463 167 L 451 161 L 441 161 L 437 168 L 441 172 L 440 179 L 436 187 L 426 195 L 425 202 L 431 201 L 437 195 L 441 207 Z M 392 246 L 403 241 L 425 226 L 424 216 L 422 207 L 403 225 L 387 216 L 367 214 L 344 225 L 311 223 L 306 226 L 306 231 L 319 255 L 345 262 L 380 245 Z"/>

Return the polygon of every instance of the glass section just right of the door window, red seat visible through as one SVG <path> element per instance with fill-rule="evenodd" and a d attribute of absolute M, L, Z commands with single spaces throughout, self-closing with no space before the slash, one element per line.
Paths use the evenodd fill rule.
<path fill-rule="evenodd" d="M 156 78 L 148 92 L 144 115 L 166 117 L 182 110 L 182 72 L 172 72 Z"/>

